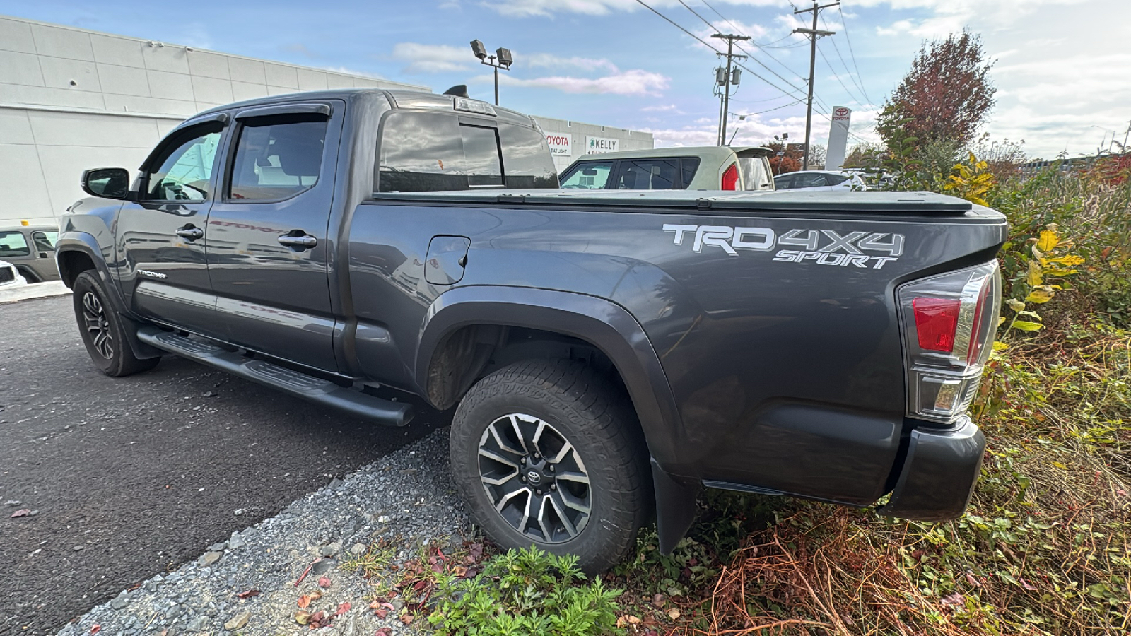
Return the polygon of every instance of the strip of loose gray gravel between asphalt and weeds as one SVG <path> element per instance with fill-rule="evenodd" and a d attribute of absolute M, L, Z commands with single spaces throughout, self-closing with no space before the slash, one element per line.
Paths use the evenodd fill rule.
<path fill-rule="evenodd" d="M 344 570 L 342 564 L 381 539 L 396 548 L 395 560 L 404 561 L 423 544 L 458 545 L 468 527 L 450 483 L 448 431 L 433 431 L 400 453 L 302 497 L 279 515 L 233 533 L 197 560 L 123 591 L 59 635 L 89 635 L 95 626 L 98 634 L 122 636 L 304 634 L 309 627 L 294 619 L 296 601 L 316 591 L 322 596 L 310 611 L 331 614 L 349 603 L 319 634 L 371 636 L 381 628 L 411 634 L 413 628 L 397 612 L 378 618 L 369 609 L 372 582 Z M 321 577 L 329 579 L 328 587 L 319 587 Z M 238 596 L 251 590 L 260 593 Z"/>

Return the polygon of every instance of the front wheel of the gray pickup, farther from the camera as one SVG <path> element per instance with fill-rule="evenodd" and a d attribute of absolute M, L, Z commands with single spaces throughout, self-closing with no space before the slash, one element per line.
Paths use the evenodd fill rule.
<path fill-rule="evenodd" d="M 133 350 L 126 340 L 126 329 L 135 327 L 114 311 L 102 281 L 93 272 L 79 274 L 71 292 L 79 335 L 95 368 L 119 378 L 148 371 L 161 362 L 161 358 L 139 359 L 133 355 Z M 93 320 L 100 317 L 101 320 Z"/>

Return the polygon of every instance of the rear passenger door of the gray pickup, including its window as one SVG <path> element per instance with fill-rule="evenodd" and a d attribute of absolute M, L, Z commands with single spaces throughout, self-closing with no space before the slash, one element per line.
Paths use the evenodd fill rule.
<path fill-rule="evenodd" d="M 327 235 L 345 103 L 236 113 L 208 218 L 208 270 L 227 341 L 336 371 Z"/>

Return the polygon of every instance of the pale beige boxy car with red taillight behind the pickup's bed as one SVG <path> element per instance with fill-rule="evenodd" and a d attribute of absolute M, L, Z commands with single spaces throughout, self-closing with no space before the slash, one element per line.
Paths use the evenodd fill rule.
<path fill-rule="evenodd" d="M 561 174 L 564 189 L 772 190 L 774 151 L 703 146 L 584 156 Z"/>

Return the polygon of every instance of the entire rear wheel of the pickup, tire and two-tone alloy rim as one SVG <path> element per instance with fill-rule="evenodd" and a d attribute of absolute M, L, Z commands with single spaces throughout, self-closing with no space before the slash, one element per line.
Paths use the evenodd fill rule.
<path fill-rule="evenodd" d="M 648 453 L 627 395 L 569 360 L 480 380 L 451 424 L 451 471 L 473 521 L 503 548 L 579 557 L 588 574 L 629 555 L 649 514 Z"/>

